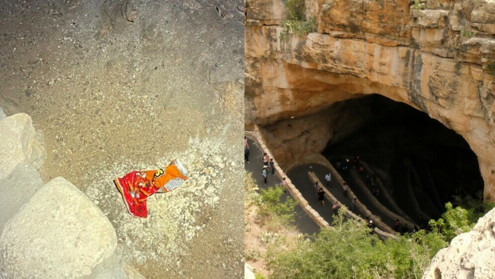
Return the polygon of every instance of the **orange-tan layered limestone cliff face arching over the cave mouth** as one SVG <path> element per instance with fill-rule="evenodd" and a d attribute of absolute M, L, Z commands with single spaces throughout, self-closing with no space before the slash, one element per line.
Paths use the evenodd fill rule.
<path fill-rule="evenodd" d="M 280 0 L 248 0 L 246 125 L 378 93 L 463 136 L 495 200 L 494 0 L 307 0 L 318 31 L 280 40 Z M 321 152 L 325 146 L 304 147 Z"/>

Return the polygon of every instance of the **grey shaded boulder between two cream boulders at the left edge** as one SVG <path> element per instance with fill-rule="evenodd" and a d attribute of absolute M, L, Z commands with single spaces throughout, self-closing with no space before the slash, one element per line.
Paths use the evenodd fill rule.
<path fill-rule="evenodd" d="M 4 179 L 0 179 L 2 199 L 0 232 L 4 224 L 25 205 L 38 189 L 43 186 L 39 172 L 30 165 L 17 165 Z"/>

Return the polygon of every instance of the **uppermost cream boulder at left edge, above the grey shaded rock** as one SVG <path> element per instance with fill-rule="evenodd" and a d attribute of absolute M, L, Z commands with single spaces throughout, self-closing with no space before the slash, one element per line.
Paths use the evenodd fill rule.
<path fill-rule="evenodd" d="M 18 113 L 1 120 L 0 139 L 0 179 L 17 164 L 41 168 L 45 158 L 43 136 L 34 131 L 29 115 Z"/>

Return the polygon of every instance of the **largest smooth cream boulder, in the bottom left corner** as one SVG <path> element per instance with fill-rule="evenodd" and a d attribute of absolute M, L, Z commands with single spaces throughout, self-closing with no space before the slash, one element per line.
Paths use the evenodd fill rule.
<path fill-rule="evenodd" d="M 1 278 L 81 278 L 116 249 L 108 218 L 57 177 L 36 192 L 0 234 Z"/>

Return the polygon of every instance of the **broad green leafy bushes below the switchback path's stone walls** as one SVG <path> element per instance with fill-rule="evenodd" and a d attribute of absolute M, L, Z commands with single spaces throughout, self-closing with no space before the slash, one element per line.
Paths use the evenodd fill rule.
<path fill-rule="evenodd" d="M 283 239 L 270 246 L 270 278 L 420 278 L 431 255 L 446 245 L 424 231 L 381 241 L 364 223 L 344 219 L 343 212 L 332 227 L 299 239 L 293 249 Z"/>

